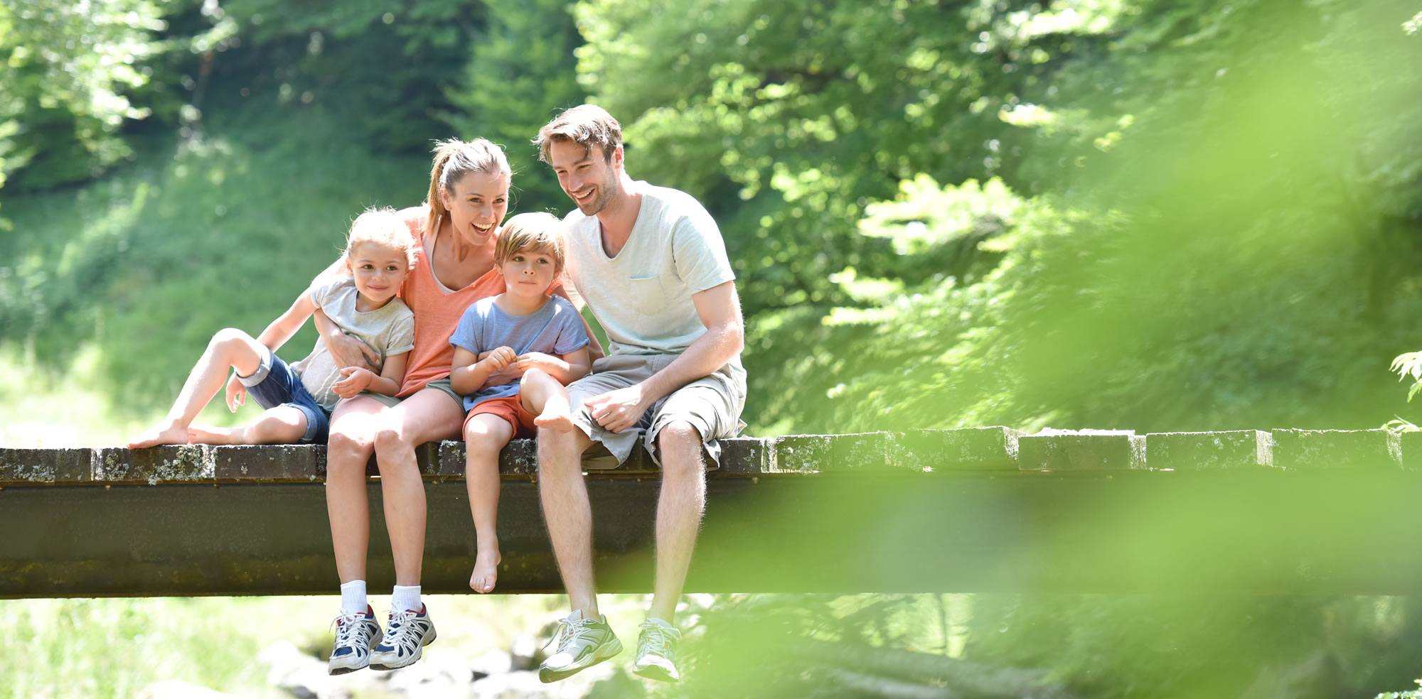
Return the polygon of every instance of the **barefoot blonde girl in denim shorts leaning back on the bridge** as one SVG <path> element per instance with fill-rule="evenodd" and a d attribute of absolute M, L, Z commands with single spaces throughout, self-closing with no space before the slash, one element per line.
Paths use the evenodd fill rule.
<path fill-rule="evenodd" d="M 324 445 L 337 401 L 361 391 L 394 395 L 405 375 L 407 352 L 414 347 L 414 314 L 395 298 L 414 260 L 412 244 L 394 209 L 361 213 L 346 240 L 344 259 L 351 277 L 317 277 L 257 338 L 236 328 L 218 331 L 188 374 L 168 416 L 129 442 L 129 449 L 182 443 Z M 364 368 L 336 367 L 320 340 L 307 358 L 290 367 L 274 354 L 316 308 L 381 352 L 384 365 L 378 375 Z M 266 412 L 240 428 L 193 426 L 193 418 L 222 388 L 229 367 L 235 374 L 228 381 L 228 409 L 236 412 L 250 392 Z"/>

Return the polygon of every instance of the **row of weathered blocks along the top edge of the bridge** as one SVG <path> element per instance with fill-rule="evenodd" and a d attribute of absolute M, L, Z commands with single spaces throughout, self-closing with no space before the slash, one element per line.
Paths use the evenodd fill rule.
<path fill-rule="evenodd" d="M 1010 428 L 920 429 L 850 435 L 735 438 L 722 442 L 714 477 L 822 473 L 933 472 L 1219 472 L 1219 470 L 1389 470 L 1422 469 L 1422 433 L 1276 429 L 1231 432 L 1051 430 L 1024 435 Z M 464 443 L 418 449 L 428 479 L 464 477 Z M 656 465 L 640 448 L 602 476 L 646 476 Z M 538 475 L 533 440 L 512 442 L 499 459 L 505 479 Z M 370 476 L 378 476 L 375 462 Z M 183 445 L 128 450 L 3 449 L 0 487 L 161 483 L 320 483 L 326 448 L 310 445 Z"/>

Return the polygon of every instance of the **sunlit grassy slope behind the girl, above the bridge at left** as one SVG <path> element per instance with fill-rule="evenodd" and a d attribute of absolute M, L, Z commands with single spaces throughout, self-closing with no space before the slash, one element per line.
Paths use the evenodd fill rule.
<path fill-rule="evenodd" d="M 257 112 L 202 138 L 146 141 L 80 188 L 3 190 L 0 443 L 127 436 L 161 415 L 215 331 L 256 334 L 286 310 L 361 209 L 421 200 L 424 156 L 373 155 L 320 109 L 280 122 Z M 314 337 L 307 327 L 283 357 Z"/>

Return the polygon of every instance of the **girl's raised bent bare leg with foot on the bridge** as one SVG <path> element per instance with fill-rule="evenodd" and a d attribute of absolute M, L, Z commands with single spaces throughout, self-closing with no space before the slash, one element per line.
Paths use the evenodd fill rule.
<path fill-rule="evenodd" d="M 262 365 L 266 347 L 252 335 L 237 328 L 219 330 L 208 342 L 208 350 L 198 358 L 198 364 L 188 372 L 178 399 L 168 411 L 168 416 L 154 429 L 134 438 L 129 449 L 144 449 L 158 445 L 188 443 L 188 425 L 208 406 L 212 396 L 218 395 L 228 379 L 228 368 L 237 369 L 237 374 L 250 376 Z"/>

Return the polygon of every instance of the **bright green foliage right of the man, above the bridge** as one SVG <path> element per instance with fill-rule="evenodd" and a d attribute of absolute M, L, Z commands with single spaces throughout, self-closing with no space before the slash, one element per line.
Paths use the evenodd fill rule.
<path fill-rule="evenodd" d="M 580 6 L 629 169 L 731 232 L 759 425 L 1391 416 L 1422 219 L 1391 3 L 860 9 Z"/>

